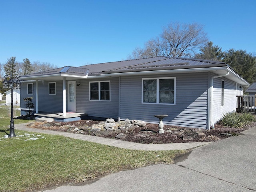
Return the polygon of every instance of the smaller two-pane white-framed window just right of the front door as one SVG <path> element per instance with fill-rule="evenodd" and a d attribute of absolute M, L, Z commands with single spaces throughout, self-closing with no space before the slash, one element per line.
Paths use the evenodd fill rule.
<path fill-rule="evenodd" d="M 90 100 L 110 101 L 110 81 L 90 82 Z"/>

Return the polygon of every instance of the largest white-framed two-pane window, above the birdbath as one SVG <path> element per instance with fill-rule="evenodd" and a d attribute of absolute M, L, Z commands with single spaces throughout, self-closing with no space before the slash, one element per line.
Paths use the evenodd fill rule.
<path fill-rule="evenodd" d="M 175 104 L 176 78 L 143 78 L 142 103 Z"/>

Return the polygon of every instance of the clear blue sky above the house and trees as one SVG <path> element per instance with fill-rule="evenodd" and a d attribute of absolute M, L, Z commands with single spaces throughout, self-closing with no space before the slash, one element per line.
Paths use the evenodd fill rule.
<path fill-rule="evenodd" d="M 256 0 L 0 0 L 0 63 L 125 60 L 170 22 L 198 22 L 223 51 L 256 54 Z"/>

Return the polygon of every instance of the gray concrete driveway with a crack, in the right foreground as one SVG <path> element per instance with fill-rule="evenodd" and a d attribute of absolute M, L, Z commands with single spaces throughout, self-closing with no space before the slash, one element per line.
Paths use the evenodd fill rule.
<path fill-rule="evenodd" d="M 83 186 L 44 192 L 256 191 L 256 127 L 192 150 L 175 164 L 121 171 Z"/>

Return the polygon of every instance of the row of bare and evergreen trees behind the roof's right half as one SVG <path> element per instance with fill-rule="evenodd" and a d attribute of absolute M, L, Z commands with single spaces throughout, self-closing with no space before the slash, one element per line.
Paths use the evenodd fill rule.
<path fill-rule="evenodd" d="M 156 38 L 148 40 L 144 47 L 136 47 L 127 59 L 155 56 L 189 57 L 226 62 L 248 83 L 256 81 L 256 56 L 246 50 L 222 48 L 209 41 L 201 24 L 170 23 Z"/>

